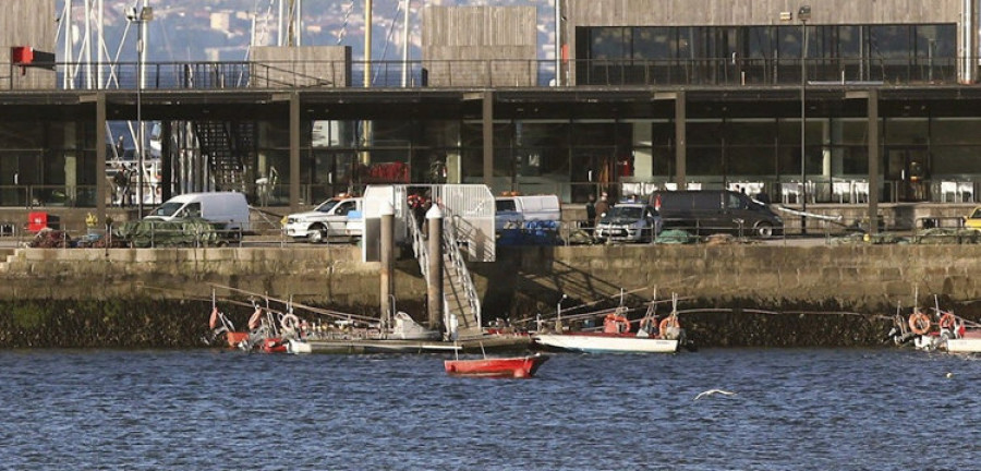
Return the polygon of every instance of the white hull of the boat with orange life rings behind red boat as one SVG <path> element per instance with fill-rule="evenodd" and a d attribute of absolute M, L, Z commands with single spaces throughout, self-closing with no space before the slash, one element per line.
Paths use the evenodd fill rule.
<path fill-rule="evenodd" d="M 535 342 L 542 347 L 584 353 L 675 353 L 678 340 L 631 335 L 540 334 Z"/>

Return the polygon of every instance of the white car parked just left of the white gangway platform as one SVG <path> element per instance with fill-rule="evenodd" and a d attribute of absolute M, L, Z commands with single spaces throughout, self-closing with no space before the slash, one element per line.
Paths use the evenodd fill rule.
<path fill-rule="evenodd" d="M 330 237 L 358 239 L 364 232 L 364 198 L 332 197 L 313 210 L 295 213 L 283 218 L 286 234 L 317 243 Z"/>

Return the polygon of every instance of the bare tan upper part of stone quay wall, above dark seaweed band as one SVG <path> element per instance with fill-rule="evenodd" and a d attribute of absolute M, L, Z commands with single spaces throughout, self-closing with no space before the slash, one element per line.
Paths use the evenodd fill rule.
<path fill-rule="evenodd" d="M 561 293 L 588 302 L 620 289 L 760 306 L 834 302 L 860 312 L 909 306 L 913 290 L 981 299 L 978 245 L 614 245 L 502 247 L 470 264 L 485 318 L 554 312 Z M 355 246 L 16 249 L 0 263 L 0 299 L 208 297 L 210 285 L 319 305 L 378 305 L 378 264 Z M 395 290 L 421 304 L 425 282 L 399 259 Z M 225 293 L 226 295 L 228 292 Z"/>

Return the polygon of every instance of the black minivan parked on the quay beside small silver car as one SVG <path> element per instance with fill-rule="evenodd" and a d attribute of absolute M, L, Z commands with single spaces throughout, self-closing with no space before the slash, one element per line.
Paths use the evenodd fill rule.
<path fill-rule="evenodd" d="M 784 220 L 770 206 L 729 190 L 656 191 L 651 204 L 665 227 L 699 235 L 742 230 L 768 239 L 784 230 Z"/>

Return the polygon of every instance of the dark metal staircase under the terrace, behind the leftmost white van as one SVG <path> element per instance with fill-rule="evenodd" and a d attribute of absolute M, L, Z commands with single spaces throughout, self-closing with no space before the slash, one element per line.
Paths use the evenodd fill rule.
<path fill-rule="evenodd" d="M 194 133 L 202 155 L 208 156 L 208 169 L 219 191 L 247 193 L 247 166 L 255 141 L 255 124 L 239 121 L 195 121 Z"/>

